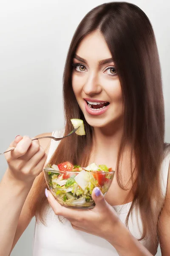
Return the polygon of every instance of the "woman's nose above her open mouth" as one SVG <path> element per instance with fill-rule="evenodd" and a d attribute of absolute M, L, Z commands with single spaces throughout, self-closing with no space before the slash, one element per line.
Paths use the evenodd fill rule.
<path fill-rule="evenodd" d="M 99 94 L 102 91 L 102 86 L 99 83 L 97 75 L 89 76 L 84 84 L 83 90 L 85 94 Z"/>

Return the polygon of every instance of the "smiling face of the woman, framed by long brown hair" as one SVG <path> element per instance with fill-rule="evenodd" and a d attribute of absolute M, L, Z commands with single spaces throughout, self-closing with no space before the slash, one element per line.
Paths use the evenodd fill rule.
<path fill-rule="evenodd" d="M 122 89 L 111 58 L 105 39 L 95 31 L 82 39 L 73 59 L 74 94 L 93 127 L 111 125 L 123 117 Z"/>

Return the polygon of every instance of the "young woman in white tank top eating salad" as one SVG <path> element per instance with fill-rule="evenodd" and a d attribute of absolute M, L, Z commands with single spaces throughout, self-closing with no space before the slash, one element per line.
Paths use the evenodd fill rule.
<path fill-rule="evenodd" d="M 73 36 L 63 78 L 65 130 L 52 135 L 68 134 L 70 119 L 80 118 L 86 136 L 11 143 L 0 184 L 0 255 L 9 255 L 33 216 L 34 256 L 151 256 L 159 241 L 169 255 L 170 153 L 159 55 L 144 12 L 130 3 L 92 9 Z M 45 190 L 43 166 L 65 161 L 116 170 L 105 198 L 93 191 L 94 209 L 62 207 Z"/>

